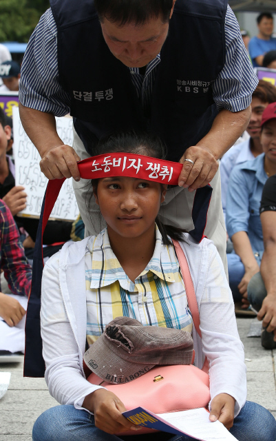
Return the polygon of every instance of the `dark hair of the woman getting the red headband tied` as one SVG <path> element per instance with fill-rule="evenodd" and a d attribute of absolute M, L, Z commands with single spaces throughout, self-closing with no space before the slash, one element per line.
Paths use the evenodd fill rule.
<path fill-rule="evenodd" d="M 151 156 L 152 158 L 164 159 L 167 149 L 162 140 L 155 134 L 127 130 L 125 132 L 115 132 L 100 139 L 94 152 L 95 155 L 118 152 L 142 154 Z M 92 179 L 91 183 L 93 192 L 96 193 L 98 179 Z M 184 240 L 183 233 L 186 232 L 186 230 L 162 224 L 159 216 L 156 218 L 156 224 L 162 235 L 164 245 L 171 245 L 171 240 L 169 240 L 168 236 L 175 240 Z"/>

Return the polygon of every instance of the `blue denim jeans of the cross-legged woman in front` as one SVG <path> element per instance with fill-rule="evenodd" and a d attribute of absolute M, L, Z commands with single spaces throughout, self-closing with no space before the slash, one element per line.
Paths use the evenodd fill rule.
<path fill-rule="evenodd" d="M 230 432 L 238 441 L 275 441 L 276 421 L 271 413 L 255 402 L 246 401 L 234 420 Z M 120 441 L 94 424 L 94 417 L 74 406 L 56 406 L 48 409 L 36 420 L 32 431 L 33 441 Z M 126 436 L 129 441 L 194 441 L 187 435 L 153 433 Z"/>

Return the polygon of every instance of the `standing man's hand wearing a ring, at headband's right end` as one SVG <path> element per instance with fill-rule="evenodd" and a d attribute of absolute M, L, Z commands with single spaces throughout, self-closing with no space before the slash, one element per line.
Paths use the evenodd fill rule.
<path fill-rule="evenodd" d="M 191 159 L 194 164 L 184 159 Z M 178 178 L 178 185 L 184 188 L 189 187 L 189 192 L 209 184 L 218 169 L 215 156 L 211 150 L 202 145 L 189 147 L 180 159 L 180 163 L 183 167 Z"/>

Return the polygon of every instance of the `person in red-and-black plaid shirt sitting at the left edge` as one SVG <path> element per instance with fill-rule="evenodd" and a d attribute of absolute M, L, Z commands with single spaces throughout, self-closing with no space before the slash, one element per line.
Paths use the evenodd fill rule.
<path fill-rule="evenodd" d="M 12 294 L 0 285 L 0 360 L 25 349 L 25 310 L 32 269 L 25 257 L 19 230 L 7 205 L 0 199 L 0 269 Z M 12 360 L 12 358 L 11 358 Z"/>

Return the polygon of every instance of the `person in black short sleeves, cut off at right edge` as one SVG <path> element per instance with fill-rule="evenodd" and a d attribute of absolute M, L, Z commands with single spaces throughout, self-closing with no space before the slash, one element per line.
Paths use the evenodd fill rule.
<path fill-rule="evenodd" d="M 276 118 L 276 116 L 275 116 Z M 276 137 L 276 120 L 275 137 Z M 264 185 L 260 207 L 264 235 L 264 254 L 260 272 L 251 278 L 247 287 L 248 300 L 263 320 L 262 346 L 276 348 L 276 174 Z"/>

